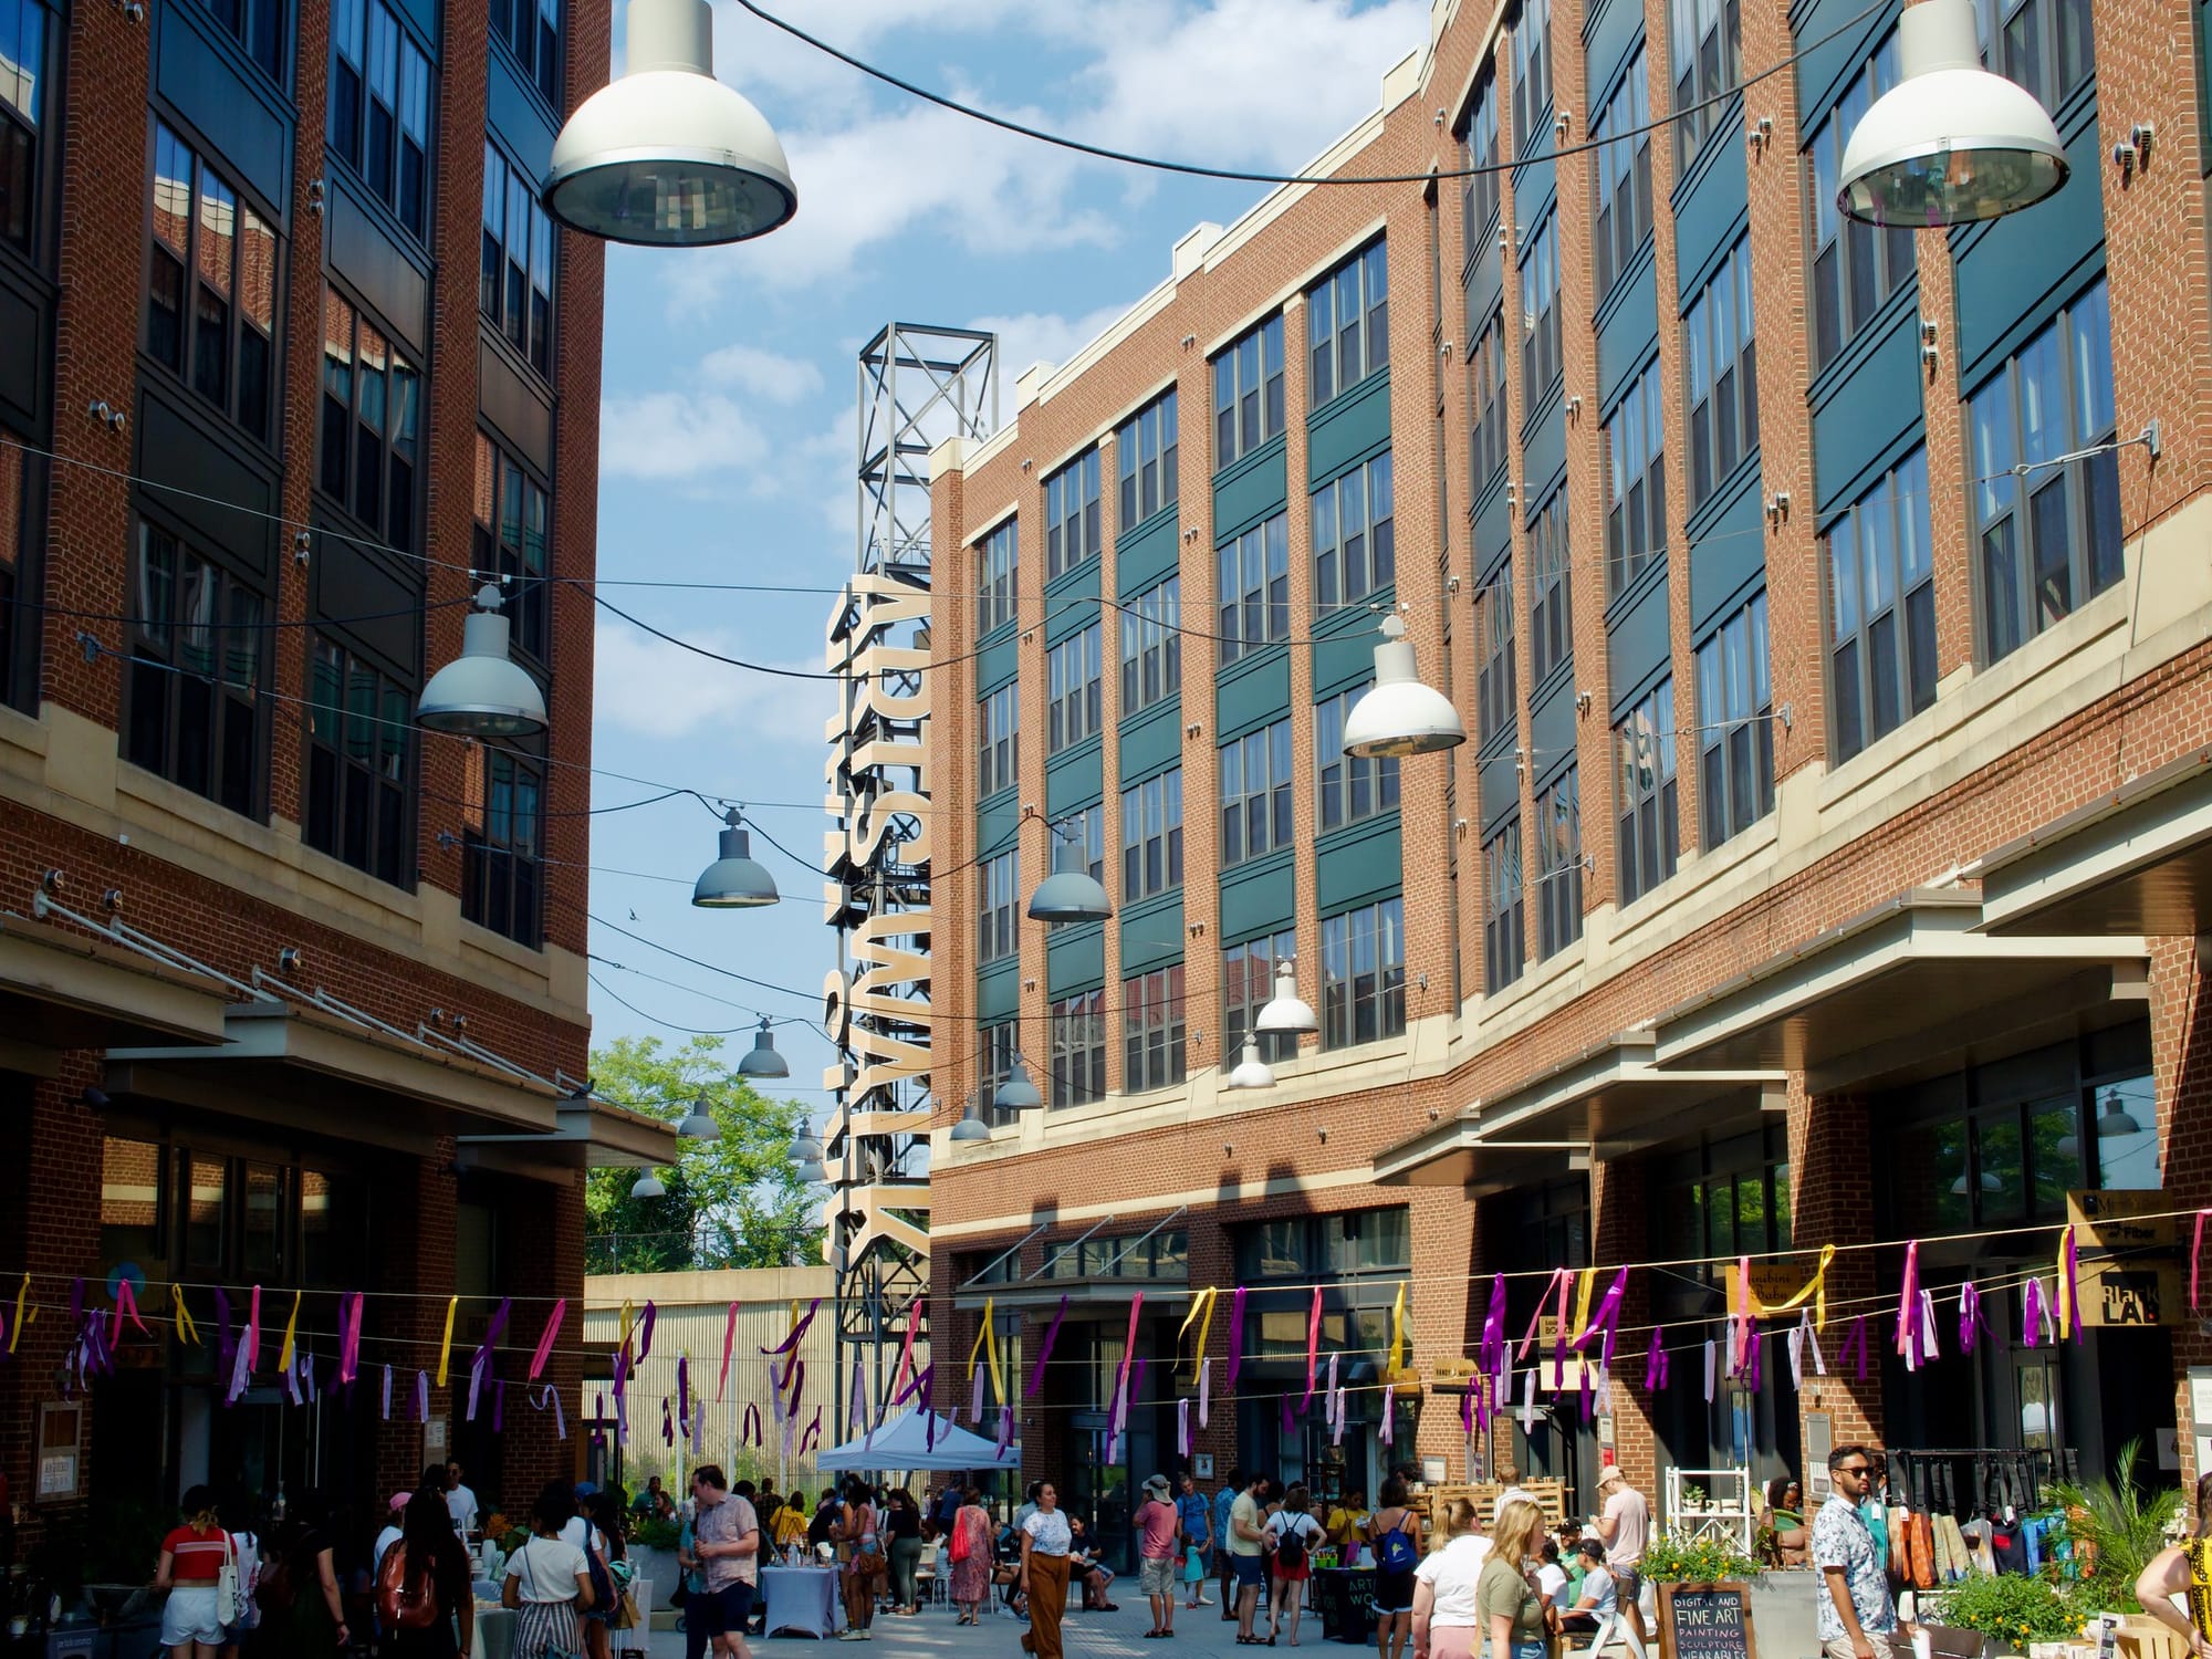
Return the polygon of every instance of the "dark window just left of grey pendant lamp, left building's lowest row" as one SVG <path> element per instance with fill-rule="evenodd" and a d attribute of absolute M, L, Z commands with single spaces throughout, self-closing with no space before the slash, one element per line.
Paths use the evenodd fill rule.
<path fill-rule="evenodd" d="M 352 650 L 307 641 L 307 821 L 310 847 L 343 858 L 394 887 L 414 887 L 411 688 Z"/>

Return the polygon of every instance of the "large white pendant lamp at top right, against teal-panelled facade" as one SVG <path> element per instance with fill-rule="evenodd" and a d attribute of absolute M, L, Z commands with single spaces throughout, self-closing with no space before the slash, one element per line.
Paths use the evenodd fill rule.
<path fill-rule="evenodd" d="M 1902 80 L 1843 146 L 1836 206 L 1874 226 L 1964 226 L 2035 206 L 2066 184 L 2066 146 L 2035 95 L 1982 69 L 1973 0 L 1920 0 L 1898 18 Z"/>

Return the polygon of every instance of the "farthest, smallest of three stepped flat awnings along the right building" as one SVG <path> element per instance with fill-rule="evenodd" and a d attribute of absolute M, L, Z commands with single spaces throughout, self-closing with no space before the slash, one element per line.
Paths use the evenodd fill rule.
<path fill-rule="evenodd" d="M 1376 1186 L 1504 1190 L 1599 1155 L 1652 1146 L 1688 1128 L 1756 1121 L 1787 1084 L 1781 1071 L 1661 1071 L 1650 1031 L 1621 1031 L 1509 1095 L 1385 1148 Z"/>

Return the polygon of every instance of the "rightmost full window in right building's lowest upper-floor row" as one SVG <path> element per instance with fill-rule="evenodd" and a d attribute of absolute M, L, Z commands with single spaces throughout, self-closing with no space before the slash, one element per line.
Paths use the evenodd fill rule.
<path fill-rule="evenodd" d="M 2121 577 L 2112 312 L 2099 276 L 1966 400 L 1989 661 Z M 2015 471 L 2026 469 L 2024 473 Z"/>

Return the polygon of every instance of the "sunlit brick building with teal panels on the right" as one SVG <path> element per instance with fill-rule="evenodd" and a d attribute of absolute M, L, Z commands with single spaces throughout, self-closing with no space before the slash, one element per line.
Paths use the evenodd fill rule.
<path fill-rule="evenodd" d="M 989 1301 L 1029 1356 L 1068 1296 L 1024 1464 L 1108 1526 L 1177 1462 L 1206 1285 L 1214 1356 L 1252 1292 L 1217 1471 L 1371 1493 L 1418 1444 L 1588 1504 L 1604 1458 L 1765 1480 L 1823 1436 L 2099 1469 L 2141 1433 L 2194 1467 L 2212 1354 L 2172 1294 L 2154 1327 L 2020 1329 L 2068 1192 L 2212 1201 L 2201 9 L 1984 0 L 2070 181 L 1918 234 L 1832 206 L 1898 73 L 1896 9 L 1856 11 L 1438 0 L 1310 168 L 1380 181 L 1199 226 L 933 458 L 940 1126 L 1015 1053 L 1046 1095 L 940 1139 L 933 1316 L 967 1352 Z M 1380 606 L 1462 748 L 1340 752 Z M 1053 823 L 1110 920 L 1022 916 Z M 1223 1091 L 1285 958 L 1321 1033 Z M 1517 1338 L 1559 1265 L 1955 1234 L 1920 1270 L 1984 1292 L 1971 1356 L 1947 1325 L 1907 1374 L 1876 1318 L 1863 1383 L 1801 1396 L 1776 1343 L 1708 1400 L 1721 1272 L 1644 1272 L 1610 1416 L 1462 1436 L 1495 1272 Z M 1847 1250 L 1829 1307 L 1893 1307 L 1900 1272 Z M 1340 1453 L 1281 1398 L 1314 1283 Z M 1137 1290 L 1152 1380 L 1108 1467 Z"/>

